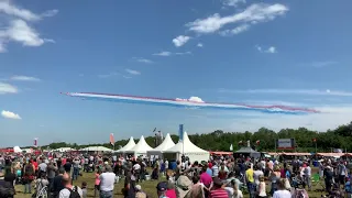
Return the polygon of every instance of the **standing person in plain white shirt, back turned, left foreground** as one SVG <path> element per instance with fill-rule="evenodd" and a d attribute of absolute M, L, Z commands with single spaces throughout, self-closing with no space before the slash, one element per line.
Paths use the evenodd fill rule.
<path fill-rule="evenodd" d="M 113 187 L 114 187 L 114 173 L 112 172 L 111 166 L 106 167 L 106 173 L 102 173 L 100 178 L 100 197 L 110 198 L 113 197 Z"/>

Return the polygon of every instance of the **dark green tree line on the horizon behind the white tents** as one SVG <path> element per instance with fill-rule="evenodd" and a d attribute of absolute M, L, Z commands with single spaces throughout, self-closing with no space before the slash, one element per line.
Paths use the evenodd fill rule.
<path fill-rule="evenodd" d="M 178 142 L 178 135 L 170 135 L 175 143 Z M 352 122 L 343 124 L 334 130 L 324 132 L 311 131 L 306 128 L 298 129 L 282 129 L 278 132 L 261 128 L 256 132 L 224 132 L 217 130 L 210 133 L 189 134 L 189 140 L 197 146 L 207 151 L 229 151 L 230 145 L 233 145 L 233 151 L 239 150 L 242 144 L 240 142 L 251 141 L 251 145 L 257 151 L 270 152 L 275 151 L 275 140 L 277 139 L 295 139 L 296 152 L 315 152 L 316 146 L 318 152 L 331 152 L 332 148 L 341 148 L 343 151 L 352 151 Z M 129 140 L 119 140 L 114 143 L 116 150 L 124 146 Z M 135 139 L 135 142 L 139 140 Z M 155 147 L 155 136 L 147 136 L 145 141 L 152 147 Z M 255 144 L 260 141 L 260 144 Z M 51 143 L 42 146 L 47 146 L 52 150 L 59 147 L 82 148 L 87 146 L 106 146 L 112 148 L 110 143 L 103 144 L 69 144 L 66 142 Z"/>

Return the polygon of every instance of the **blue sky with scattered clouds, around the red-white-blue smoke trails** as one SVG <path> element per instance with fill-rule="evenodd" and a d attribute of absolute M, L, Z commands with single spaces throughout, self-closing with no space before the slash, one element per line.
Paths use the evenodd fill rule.
<path fill-rule="evenodd" d="M 265 2 L 265 3 L 263 3 Z M 1 146 L 350 122 L 351 1 L 0 0 Z M 82 101 L 91 91 L 312 107 L 310 116 Z"/>

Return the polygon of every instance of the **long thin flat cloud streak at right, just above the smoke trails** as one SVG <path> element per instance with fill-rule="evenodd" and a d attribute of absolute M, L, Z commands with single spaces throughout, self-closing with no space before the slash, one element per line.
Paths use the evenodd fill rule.
<path fill-rule="evenodd" d="M 352 91 L 341 91 L 341 90 L 331 90 L 331 89 L 326 89 L 326 90 L 318 90 L 318 89 L 248 89 L 248 90 L 219 89 L 219 92 L 312 95 L 312 96 L 352 97 Z"/>

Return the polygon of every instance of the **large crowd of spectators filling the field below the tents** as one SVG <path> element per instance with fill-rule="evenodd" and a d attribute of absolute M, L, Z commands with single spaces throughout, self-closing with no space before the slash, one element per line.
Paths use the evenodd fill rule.
<path fill-rule="evenodd" d="M 142 189 L 147 179 L 160 182 L 160 198 L 242 198 L 244 194 L 250 198 L 309 197 L 312 178 L 323 182 L 322 196 L 351 195 L 345 161 L 327 158 L 317 163 L 318 180 L 312 176 L 309 158 L 278 162 L 211 156 L 207 162 L 191 162 L 187 156 L 168 161 L 97 154 L 0 155 L 0 198 L 14 197 L 16 184 L 34 197 L 86 198 L 87 182 L 74 185 L 82 172 L 95 175 L 94 196 L 101 198 L 113 197 L 116 183 L 121 179 L 125 198 L 153 198 Z"/>

